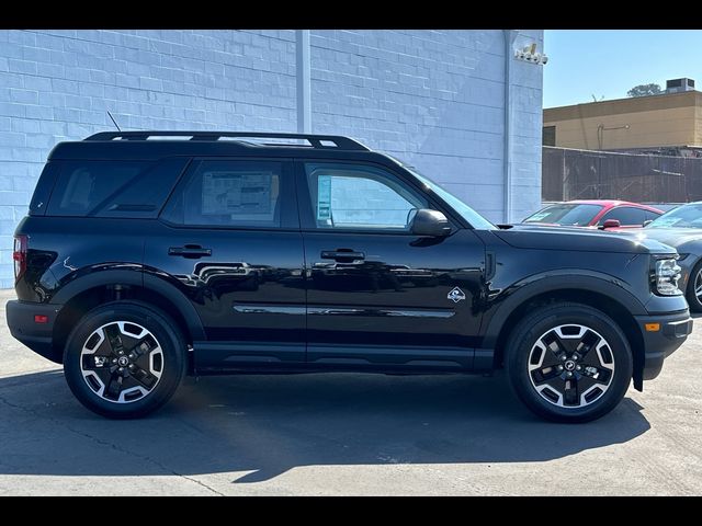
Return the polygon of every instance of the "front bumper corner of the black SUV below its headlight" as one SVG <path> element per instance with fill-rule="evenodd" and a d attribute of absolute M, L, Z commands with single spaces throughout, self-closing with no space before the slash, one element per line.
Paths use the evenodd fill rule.
<path fill-rule="evenodd" d="M 664 359 L 682 345 L 692 332 L 692 318 L 690 318 L 689 310 L 675 315 L 637 316 L 635 318 L 644 342 L 642 380 L 652 380 L 660 373 Z M 658 323 L 659 330 L 647 331 L 646 325 L 652 323 Z"/>

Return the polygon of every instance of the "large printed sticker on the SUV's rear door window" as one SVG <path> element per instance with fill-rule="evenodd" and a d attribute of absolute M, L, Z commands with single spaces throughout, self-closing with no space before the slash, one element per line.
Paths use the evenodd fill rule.
<path fill-rule="evenodd" d="M 203 215 L 271 215 L 272 172 L 206 172 L 202 180 Z"/>

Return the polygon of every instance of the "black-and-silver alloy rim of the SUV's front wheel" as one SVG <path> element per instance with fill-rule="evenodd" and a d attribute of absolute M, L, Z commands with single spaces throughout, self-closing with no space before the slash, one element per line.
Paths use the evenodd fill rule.
<path fill-rule="evenodd" d="M 577 323 L 544 332 L 532 346 L 528 365 L 541 398 L 566 409 L 595 403 L 614 378 L 614 354 L 607 340 Z"/>

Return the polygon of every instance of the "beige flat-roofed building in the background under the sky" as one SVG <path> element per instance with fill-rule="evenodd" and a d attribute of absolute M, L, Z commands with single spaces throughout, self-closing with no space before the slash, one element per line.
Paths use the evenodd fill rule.
<path fill-rule="evenodd" d="M 675 79 L 659 95 L 546 108 L 543 144 L 586 150 L 702 147 L 702 93 L 693 87 Z"/>

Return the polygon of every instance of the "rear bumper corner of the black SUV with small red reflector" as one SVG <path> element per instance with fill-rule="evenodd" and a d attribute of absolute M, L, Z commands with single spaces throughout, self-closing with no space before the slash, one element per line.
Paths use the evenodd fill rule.
<path fill-rule="evenodd" d="M 24 345 L 45 358 L 60 364 L 61 350 L 55 350 L 53 343 L 54 322 L 61 305 L 33 304 L 19 300 L 8 301 L 7 319 L 10 333 Z M 36 323 L 36 315 L 46 316 L 46 323 Z"/>

